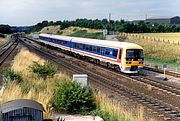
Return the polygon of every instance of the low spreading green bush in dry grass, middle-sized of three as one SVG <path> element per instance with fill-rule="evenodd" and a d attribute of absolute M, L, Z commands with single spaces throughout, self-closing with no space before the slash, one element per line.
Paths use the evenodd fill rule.
<path fill-rule="evenodd" d="M 29 70 L 43 79 L 53 77 L 57 72 L 57 68 L 49 62 L 46 62 L 44 65 L 34 62 L 32 66 L 29 66 Z"/>

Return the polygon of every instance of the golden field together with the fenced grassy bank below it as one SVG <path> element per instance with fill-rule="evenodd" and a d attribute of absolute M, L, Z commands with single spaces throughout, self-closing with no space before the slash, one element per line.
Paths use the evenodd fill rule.
<path fill-rule="evenodd" d="M 160 40 L 158 35 L 169 38 L 169 41 Z M 180 34 L 167 33 L 166 35 L 166 33 L 147 33 L 120 34 L 119 36 L 120 38 L 124 38 L 124 40 L 120 39 L 120 41 L 133 42 L 141 45 L 144 48 L 146 63 L 152 63 L 152 65 L 158 65 L 159 67 L 162 67 L 163 64 L 168 64 L 171 68 L 180 70 L 180 45 L 178 44 Z M 173 44 L 173 40 L 175 40 L 173 38 L 176 38 L 177 43 Z"/>

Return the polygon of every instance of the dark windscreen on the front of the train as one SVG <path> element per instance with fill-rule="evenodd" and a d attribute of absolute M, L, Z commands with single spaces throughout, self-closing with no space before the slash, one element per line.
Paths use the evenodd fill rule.
<path fill-rule="evenodd" d="M 127 49 L 126 50 L 127 59 L 144 59 L 142 49 Z"/>

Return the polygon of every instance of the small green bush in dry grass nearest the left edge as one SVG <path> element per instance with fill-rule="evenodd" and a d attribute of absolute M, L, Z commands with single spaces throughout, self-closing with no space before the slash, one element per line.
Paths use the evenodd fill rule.
<path fill-rule="evenodd" d="M 18 83 L 20 83 L 22 81 L 22 77 L 20 73 L 16 73 L 11 69 L 6 69 L 3 72 L 3 76 L 4 76 L 4 83 L 9 84 L 12 81 L 17 81 Z"/>

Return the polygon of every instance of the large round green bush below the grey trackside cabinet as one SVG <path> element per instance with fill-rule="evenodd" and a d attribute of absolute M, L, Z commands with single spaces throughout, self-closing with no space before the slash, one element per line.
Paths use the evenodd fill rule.
<path fill-rule="evenodd" d="M 57 110 L 69 113 L 90 111 L 95 108 L 92 90 L 81 87 L 74 81 L 66 81 L 57 86 L 53 105 Z"/>

